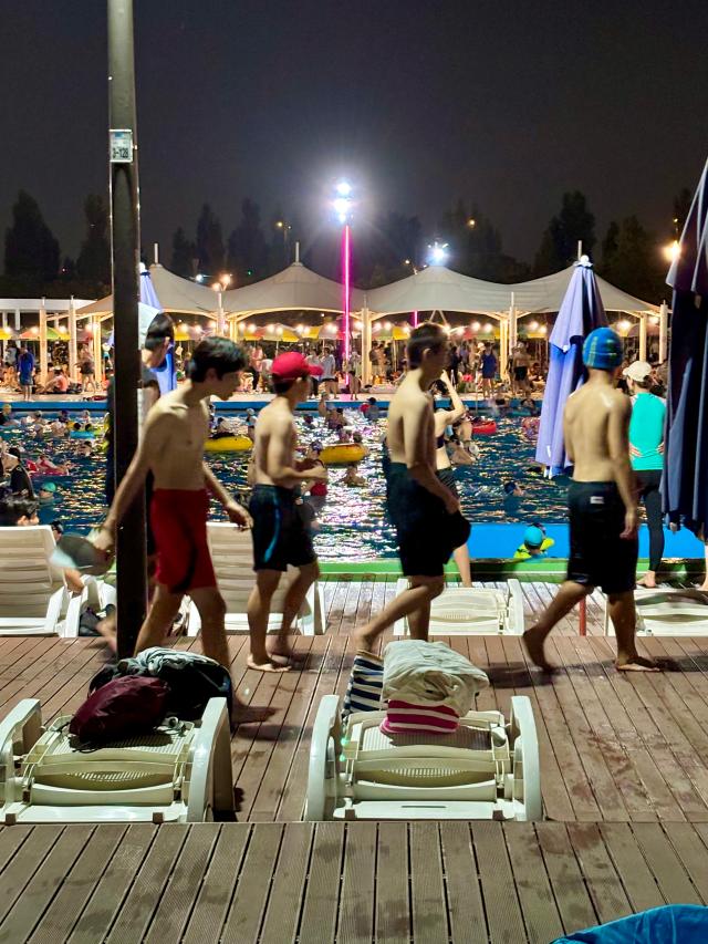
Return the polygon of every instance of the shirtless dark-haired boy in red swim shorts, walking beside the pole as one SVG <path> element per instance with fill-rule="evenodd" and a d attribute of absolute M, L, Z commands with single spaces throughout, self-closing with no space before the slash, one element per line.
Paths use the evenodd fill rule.
<path fill-rule="evenodd" d="M 244 355 L 232 341 L 209 338 L 197 345 L 187 383 L 160 397 L 150 409 L 137 452 L 94 541 L 101 550 L 113 548 L 116 528 L 152 471 L 155 484 L 149 512 L 157 587 L 136 652 L 163 643 L 183 597 L 189 593 L 201 616 L 205 655 L 229 668 L 226 604 L 217 589 L 207 542 L 209 496 L 221 502 L 236 525 L 248 527 L 250 518 L 205 465 L 204 444 L 209 437 L 207 402 L 211 396 L 228 400 L 244 365 Z M 243 707 L 238 710 L 238 719 L 246 720 Z"/>

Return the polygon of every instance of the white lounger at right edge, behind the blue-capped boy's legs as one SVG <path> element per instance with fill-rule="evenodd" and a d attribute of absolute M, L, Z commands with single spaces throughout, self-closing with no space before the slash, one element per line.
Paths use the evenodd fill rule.
<path fill-rule="evenodd" d="M 603 594 L 604 595 L 604 594 Z M 645 636 L 708 635 L 708 593 L 693 588 L 637 587 L 637 634 Z M 604 598 L 605 635 L 614 636 L 607 598 Z"/>

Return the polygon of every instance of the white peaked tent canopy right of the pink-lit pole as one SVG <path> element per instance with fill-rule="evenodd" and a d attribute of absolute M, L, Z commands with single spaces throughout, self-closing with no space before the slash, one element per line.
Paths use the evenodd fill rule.
<path fill-rule="evenodd" d="M 444 266 L 429 266 L 414 276 L 374 289 L 366 304 L 378 315 L 409 311 L 458 311 L 507 317 L 509 309 L 519 314 L 559 311 L 574 266 L 561 272 L 527 282 L 502 286 L 461 276 Z M 656 305 L 636 299 L 597 278 L 606 311 L 657 312 Z"/>

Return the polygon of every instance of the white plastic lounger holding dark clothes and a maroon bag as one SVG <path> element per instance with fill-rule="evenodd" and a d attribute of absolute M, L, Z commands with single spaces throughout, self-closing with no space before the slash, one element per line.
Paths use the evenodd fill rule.
<path fill-rule="evenodd" d="M 204 822 L 233 815 L 226 701 L 200 722 L 77 750 L 27 698 L 0 722 L 0 823 Z"/>

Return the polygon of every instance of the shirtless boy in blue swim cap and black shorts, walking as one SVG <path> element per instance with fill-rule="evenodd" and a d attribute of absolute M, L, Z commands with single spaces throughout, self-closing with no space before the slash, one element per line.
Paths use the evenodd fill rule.
<path fill-rule="evenodd" d="M 565 405 L 565 452 L 574 464 L 568 492 L 571 556 L 568 577 L 534 626 L 523 634 L 531 660 L 552 671 L 543 643 L 553 626 L 595 587 L 610 601 L 617 637 L 615 665 L 624 672 L 656 672 L 637 654 L 634 587 L 637 563 L 637 496 L 629 463 L 632 401 L 615 390 L 623 350 L 610 328 L 583 345 L 590 378 Z"/>

